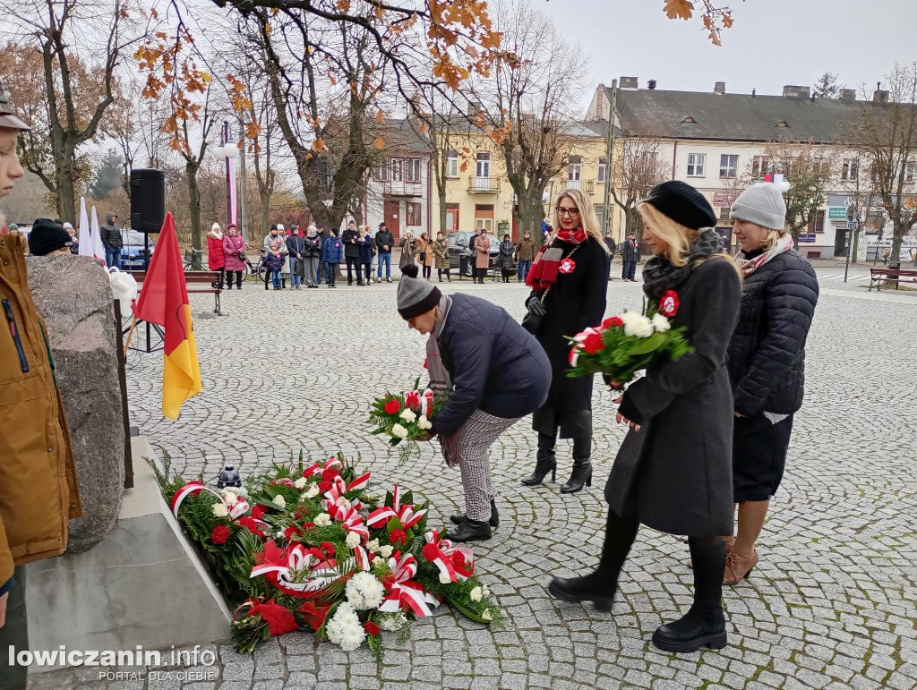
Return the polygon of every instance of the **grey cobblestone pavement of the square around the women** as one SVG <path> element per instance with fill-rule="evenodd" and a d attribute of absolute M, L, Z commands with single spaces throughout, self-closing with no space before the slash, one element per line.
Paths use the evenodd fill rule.
<path fill-rule="evenodd" d="M 194 299 L 204 394 L 182 418 L 160 418 L 161 356 L 130 358 L 130 406 L 151 443 L 189 478 L 232 462 L 243 473 L 304 449 L 315 459 L 359 455 L 379 487 L 398 480 L 430 498 L 431 524 L 461 509 L 458 473 L 432 446 L 409 466 L 370 436 L 365 411 L 390 386 L 409 386 L 424 359 L 421 336 L 394 310 L 393 285 L 224 294 L 223 318 Z M 453 282 L 522 315 L 525 288 Z M 525 488 L 535 439 L 526 422 L 492 452 L 501 526 L 476 547 L 480 572 L 506 613 L 489 630 L 441 608 L 412 641 L 385 639 L 381 663 L 306 635 L 273 640 L 254 658 L 219 646 L 205 682 L 176 677 L 112 682 L 119 688 L 913 688 L 917 686 L 917 301 L 823 297 L 812 329 L 808 397 L 797 415 L 787 475 L 759 545 L 761 561 L 724 603 L 730 644 L 673 655 L 649 642 L 660 622 L 691 604 L 687 546 L 642 529 L 612 614 L 547 597 L 550 575 L 596 563 L 602 484 L 623 433 L 610 397 L 595 395 L 597 486 L 561 496 L 558 483 Z M 609 311 L 640 305 L 640 286 L 616 280 Z M 289 430 L 289 431 L 288 431 Z M 566 443 L 566 442 L 564 442 Z M 567 451 L 565 453 L 565 451 Z M 178 585 L 178 583 L 176 583 Z M 200 669 L 198 669 L 200 670 Z M 97 674 L 47 674 L 35 687 L 99 686 Z"/>

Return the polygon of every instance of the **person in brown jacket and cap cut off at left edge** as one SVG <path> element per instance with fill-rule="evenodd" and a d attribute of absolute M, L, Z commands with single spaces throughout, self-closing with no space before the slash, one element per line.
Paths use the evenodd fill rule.
<path fill-rule="evenodd" d="M 23 176 L 19 132 L 29 127 L 0 93 L 0 202 Z M 28 290 L 25 235 L 0 215 L 0 650 L 28 650 L 22 566 L 67 548 L 67 521 L 82 513 L 70 433 L 54 380 L 45 323 Z M 0 665 L 0 688 L 25 690 L 28 666 Z"/>

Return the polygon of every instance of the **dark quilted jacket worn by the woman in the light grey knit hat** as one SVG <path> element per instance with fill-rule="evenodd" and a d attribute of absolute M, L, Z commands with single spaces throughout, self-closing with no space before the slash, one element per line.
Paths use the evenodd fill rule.
<path fill-rule="evenodd" d="M 801 408 L 805 342 L 817 302 L 812 264 L 795 251 L 779 254 L 746 277 L 727 353 L 735 411 L 750 416 Z"/>

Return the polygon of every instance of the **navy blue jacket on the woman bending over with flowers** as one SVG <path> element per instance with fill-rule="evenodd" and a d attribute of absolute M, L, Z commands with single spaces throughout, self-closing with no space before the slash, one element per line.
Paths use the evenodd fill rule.
<path fill-rule="evenodd" d="M 454 390 L 430 420 L 433 433 L 456 433 L 475 410 L 503 419 L 525 417 L 547 399 L 551 365 L 545 351 L 495 304 L 453 295 L 438 343 Z"/>

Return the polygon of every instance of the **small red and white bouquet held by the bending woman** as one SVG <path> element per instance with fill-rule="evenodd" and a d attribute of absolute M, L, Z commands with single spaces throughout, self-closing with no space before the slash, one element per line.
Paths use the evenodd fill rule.
<path fill-rule="evenodd" d="M 448 398 L 446 392 L 418 389 L 419 383 L 418 378 L 414 389 L 403 394 L 386 393 L 370 405 L 370 422 L 377 425 L 372 433 L 385 436 L 392 447 L 397 447 L 402 463 L 420 455 L 417 441 L 430 437 L 430 420 Z"/>

